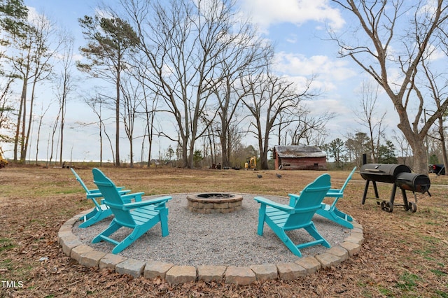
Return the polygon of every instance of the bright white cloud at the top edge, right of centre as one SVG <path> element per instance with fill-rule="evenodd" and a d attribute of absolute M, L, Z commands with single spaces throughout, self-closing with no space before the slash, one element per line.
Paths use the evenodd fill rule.
<path fill-rule="evenodd" d="M 344 25 L 339 10 L 331 8 L 328 0 L 241 0 L 241 9 L 262 30 L 283 22 L 297 26 L 309 21 L 330 22 L 334 29 Z"/>

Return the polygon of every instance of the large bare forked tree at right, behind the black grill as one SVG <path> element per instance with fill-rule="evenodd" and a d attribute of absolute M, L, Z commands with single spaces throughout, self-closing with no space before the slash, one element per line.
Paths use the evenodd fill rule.
<path fill-rule="evenodd" d="M 447 31 L 446 1 L 332 2 L 354 18 L 350 22 L 354 32 L 350 31 L 346 38 L 332 32 L 332 38 L 340 46 L 340 55 L 351 57 L 386 91 L 400 119 L 398 128 L 412 148 L 414 171 L 427 173 L 424 139 L 446 110 L 448 100 L 443 99 L 440 108 L 419 127 L 426 104 L 422 94 L 427 85 L 427 78 L 419 73 L 429 57 L 428 50 L 434 42 L 440 43 L 437 42 L 440 32 Z M 401 76 L 393 79 L 394 71 L 400 71 Z"/>

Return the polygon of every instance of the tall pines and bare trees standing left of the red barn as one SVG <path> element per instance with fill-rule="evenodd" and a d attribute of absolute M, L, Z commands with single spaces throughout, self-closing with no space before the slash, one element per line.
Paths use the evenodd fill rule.
<path fill-rule="evenodd" d="M 137 152 L 143 156 L 146 151 L 150 162 L 157 136 L 176 143 L 172 150 L 182 166 L 193 167 L 195 150 L 213 160 L 219 156 L 223 166 L 230 166 L 236 146 L 255 137 L 262 169 L 267 169 L 273 139 L 323 142 L 325 124 L 333 115 L 311 116 L 302 104 L 318 93 L 313 78 L 297 85 L 277 76 L 274 48 L 241 17 L 235 1 L 121 0 L 96 11 L 78 20 L 85 43 L 83 59 L 73 61 L 70 32 L 57 31 L 45 15 L 29 17 L 21 0 L 1 1 L 2 42 L 8 45 L 1 69 L 9 81 L 2 86 L 0 124 L 2 141 L 14 143 L 15 161 L 28 158 L 33 130 L 37 159 L 45 113 L 36 114 L 36 90 L 50 81 L 56 100 L 44 104 L 57 105 L 58 113 L 51 125 L 49 158 L 56 159 L 58 151 L 62 163 L 75 66 L 113 86 L 111 92 L 98 89 L 85 103 L 97 115 L 99 159 L 103 148 L 110 148 L 116 166 L 123 160 L 123 139 L 131 166 Z M 10 96 L 13 85 L 21 86 L 19 100 Z M 137 135 L 139 127 L 144 132 Z M 141 148 L 134 148 L 137 140 Z"/>

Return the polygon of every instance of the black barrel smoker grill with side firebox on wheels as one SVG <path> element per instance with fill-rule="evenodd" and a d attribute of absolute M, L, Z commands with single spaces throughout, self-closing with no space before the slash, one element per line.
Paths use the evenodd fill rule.
<path fill-rule="evenodd" d="M 406 211 L 412 211 L 412 213 L 417 211 L 416 204 L 414 202 L 407 201 L 406 190 L 412 191 L 414 193 L 414 197 L 415 192 L 428 192 L 430 195 L 429 187 L 431 183 L 428 176 L 418 173 L 411 173 L 411 169 L 405 164 L 363 164 L 360 169 L 360 174 L 361 177 L 366 180 L 362 204 L 365 203 L 367 189 L 369 188 L 370 181 L 372 181 L 377 204 L 381 204 L 381 209 L 383 211 L 392 212 L 393 206 L 404 206 Z M 379 202 L 377 182 L 393 184 L 391 199 L 389 201 Z M 400 187 L 401 189 L 403 197 L 402 205 L 393 204 L 397 187 Z"/>

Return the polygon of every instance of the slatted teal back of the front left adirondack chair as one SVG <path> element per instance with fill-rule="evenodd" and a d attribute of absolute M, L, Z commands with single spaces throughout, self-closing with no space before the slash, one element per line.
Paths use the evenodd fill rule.
<path fill-rule="evenodd" d="M 123 210 L 125 201 L 123 201 L 116 185 L 112 182 L 112 180 L 107 178 L 106 175 L 104 175 L 104 173 L 99 169 L 92 169 L 92 173 L 94 183 L 103 194 L 104 201 L 106 205 L 111 208 L 116 220 L 125 226 L 130 223 L 135 225 L 134 218 L 132 218 L 130 211 Z"/>

